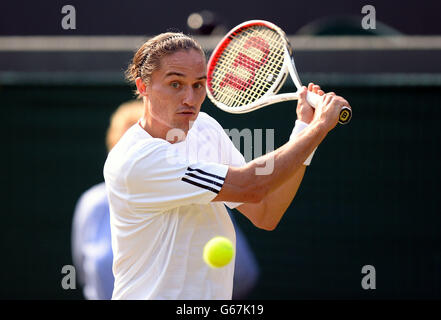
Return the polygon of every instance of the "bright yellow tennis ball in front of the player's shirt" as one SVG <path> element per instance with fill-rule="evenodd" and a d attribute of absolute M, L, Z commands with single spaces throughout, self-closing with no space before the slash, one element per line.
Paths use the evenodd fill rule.
<path fill-rule="evenodd" d="M 214 237 L 204 246 L 203 258 L 212 268 L 221 268 L 230 263 L 234 256 L 234 247 L 225 237 Z"/>

